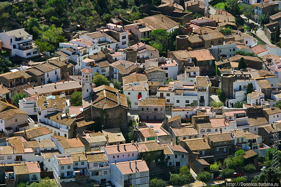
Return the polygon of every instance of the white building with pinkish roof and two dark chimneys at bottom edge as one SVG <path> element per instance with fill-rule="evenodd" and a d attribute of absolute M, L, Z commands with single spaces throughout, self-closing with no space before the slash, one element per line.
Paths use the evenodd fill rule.
<path fill-rule="evenodd" d="M 134 160 L 110 164 L 111 182 L 116 187 L 134 185 L 139 187 L 149 186 L 149 169 L 145 160 Z"/>

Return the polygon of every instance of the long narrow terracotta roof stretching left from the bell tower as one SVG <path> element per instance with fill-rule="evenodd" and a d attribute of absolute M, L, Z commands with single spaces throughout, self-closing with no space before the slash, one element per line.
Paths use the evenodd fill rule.
<path fill-rule="evenodd" d="M 56 88 L 54 87 L 54 85 L 56 85 Z M 78 89 L 78 88 L 82 88 L 82 85 L 79 84 L 79 81 L 64 81 L 64 82 L 56 82 L 56 84 L 49 83 L 43 85 L 42 87 L 35 86 L 32 88 L 24 89 L 24 91 L 30 94 L 31 96 L 33 96 L 33 95 L 41 95 L 51 92 L 60 92 L 65 90 Z M 35 91 L 37 91 L 37 93 Z"/>

